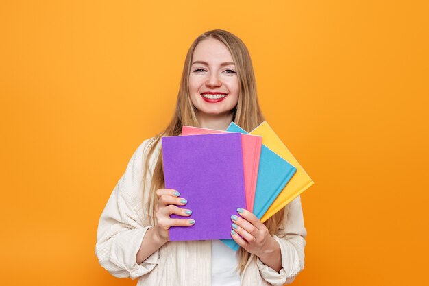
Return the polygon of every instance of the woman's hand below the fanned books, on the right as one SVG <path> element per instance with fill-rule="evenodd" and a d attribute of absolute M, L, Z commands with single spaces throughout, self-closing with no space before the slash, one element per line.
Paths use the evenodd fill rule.
<path fill-rule="evenodd" d="M 280 258 L 280 246 L 269 234 L 267 226 L 262 224 L 253 213 L 243 208 L 238 208 L 237 213 L 239 216 L 231 216 L 233 222 L 232 239 L 247 252 L 258 256 L 262 261 L 273 254 L 277 254 Z"/>

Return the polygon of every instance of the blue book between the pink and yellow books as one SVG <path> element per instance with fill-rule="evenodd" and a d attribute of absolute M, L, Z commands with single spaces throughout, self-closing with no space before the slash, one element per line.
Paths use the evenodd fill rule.
<path fill-rule="evenodd" d="M 234 122 L 228 126 L 226 131 L 249 134 Z M 284 186 L 286 186 L 297 171 L 295 167 L 287 163 L 286 160 L 275 154 L 275 152 L 271 151 L 263 143 L 264 139 L 262 139 L 262 149 L 260 150 L 258 181 L 256 182 L 253 211 L 258 219 L 267 212 L 282 189 L 284 189 Z M 234 239 L 221 239 L 221 241 L 233 250 L 238 250 L 240 247 Z"/>

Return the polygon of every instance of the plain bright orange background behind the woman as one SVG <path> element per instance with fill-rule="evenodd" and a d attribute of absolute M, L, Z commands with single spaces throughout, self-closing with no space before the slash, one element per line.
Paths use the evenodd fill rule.
<path fill-rule="evenodd" d="M 294 285 L 429 285 L 429 5 L 398 2 L 2 1 L 1 285 L 136 285 L 99 266 L 98 219 L 217 28 L 315 181 Z"/>

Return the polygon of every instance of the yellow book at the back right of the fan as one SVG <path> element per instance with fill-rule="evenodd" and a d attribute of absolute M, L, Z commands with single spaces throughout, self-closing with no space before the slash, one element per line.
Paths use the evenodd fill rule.
<path fill-rule="evenodd" d="M 260 126 L 252 130 L 249 134 L 262 136 L 262 144 L 269 147 L 269 149 L 278 154 L 278 156 L 284 158 L 284 160 L 297 168 L 295 175 L 293 175 L 291 180 L 286 184 L 286 187 L 284 187 L 280 195 L 278 195 L 273 204 L 271 204 L 267 212 L 260 219 L 261 222 L 265 222 L 284 208 L 286 204 L 289 204 L 289 202 L 297 198 L 298 195 L 302 194 L 308 187 L 314 184 L 314 182 L 306 171 L 304 171 L 302 166 L 299 165 L 298 161 L 277 134 L 275 134 L 271 126 L 268 125 L 267 121 L 262 122 Z"/>

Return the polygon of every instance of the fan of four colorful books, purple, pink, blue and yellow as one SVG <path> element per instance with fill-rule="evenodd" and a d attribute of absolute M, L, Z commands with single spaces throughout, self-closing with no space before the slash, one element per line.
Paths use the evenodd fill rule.
<path fill-rule="evenodd" d="M 180 191 L 195 219 L 171 227 L 170 241 L 221 239 L 238 250 L 237 208 L 265 222 L 313 184 L 266 121 L 249 133 L 234 122 L 226 131 L 183 126 L 181 136 L 162 137 L 162 160 L 165 187 Z"/>

